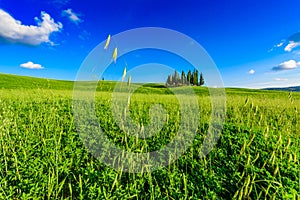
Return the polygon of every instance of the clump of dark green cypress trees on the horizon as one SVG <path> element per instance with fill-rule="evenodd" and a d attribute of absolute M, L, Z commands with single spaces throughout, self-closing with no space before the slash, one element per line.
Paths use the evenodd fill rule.
<path fill-rule="evenodd" d="M 193 72 L 189 70 L 187 74 L 182 70 L 181 75 L 175 70 L 172 75 L 168 76 L 166 86 L 177 87 L 184 85 L 204 85 L 204 77 L 202 72 L 200 73 L 200 78 L 198 70 L 194 70 Z"/>

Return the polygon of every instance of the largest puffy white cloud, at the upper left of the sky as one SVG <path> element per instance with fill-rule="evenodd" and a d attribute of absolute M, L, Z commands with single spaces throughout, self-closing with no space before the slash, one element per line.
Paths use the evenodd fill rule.
<path fill-rule="evenodd" d="M 34 18 L 37 26 L 23 25 L 21 21 L 14 19 L 10 14 L 0 9 L 0 38 L 13 43 L 39 45 L 43 42 L 53 45 L 49 36 L 53 32 L 60 31 L 63 25 L 55 23 L 49 14 L 41 12 L 41 20 Z"/>

